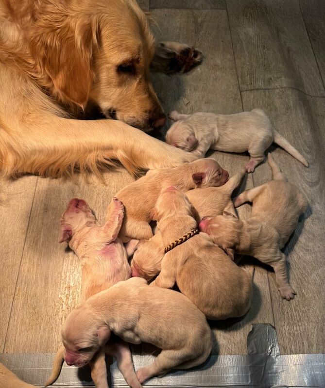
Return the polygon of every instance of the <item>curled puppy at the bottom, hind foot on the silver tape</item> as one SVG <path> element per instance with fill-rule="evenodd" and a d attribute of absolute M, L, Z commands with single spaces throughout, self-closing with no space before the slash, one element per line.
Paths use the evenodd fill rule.
<path fill-rule="evenodd" d="M 202 364 L 212 347 L 210 327 L 197 307 L 179 292 L 150 288 L 139 277 L 92 296 L 68 315 L 62 329 L 68 362 L 86 365 L 111 332 L 162 349 L 152 364 L 137 370 L 141 383 Z"/>

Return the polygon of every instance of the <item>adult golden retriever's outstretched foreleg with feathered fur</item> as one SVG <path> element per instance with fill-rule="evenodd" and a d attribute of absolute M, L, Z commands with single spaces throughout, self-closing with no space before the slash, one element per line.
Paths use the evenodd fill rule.
<path fill-rule="evenodd" d="M 117 120 L 73 120 L 47 115 L 0 131 L 0 170 L 5 176 L 29 172 L 70 176 L 75 167 L 100 173 L 120 161 L 132 174 L 170 168 L 195 159 L 186 151 L 157 140 Z"/>

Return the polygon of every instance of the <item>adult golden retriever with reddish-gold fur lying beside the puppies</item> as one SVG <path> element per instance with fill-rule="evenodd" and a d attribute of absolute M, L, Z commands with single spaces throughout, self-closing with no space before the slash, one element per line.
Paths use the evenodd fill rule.
<path fill-rule="evenodd" d="M 149 80 L 154 50 L 135 0 L 0 0 L 1 175 L 193 160 L 133 128 L 165 122 Z M 117 120 L 75 119 L 93 105 Z"/>

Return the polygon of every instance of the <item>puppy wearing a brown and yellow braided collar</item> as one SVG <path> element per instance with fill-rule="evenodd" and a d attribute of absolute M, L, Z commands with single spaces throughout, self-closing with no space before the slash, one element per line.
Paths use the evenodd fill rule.
<path fill-rule="evenodd" d="M 165 247 L 183 241 L 186 234 L 197 228 L 191 204 L 175 187 L 159 196 L 154 211 Z M 251 304 L 251 275 L 205 233 L 194 234 L 168 251 L 160 274 L 150 286 L 171 288 L 175 283 L 208 319 L 240 317 Z"/>

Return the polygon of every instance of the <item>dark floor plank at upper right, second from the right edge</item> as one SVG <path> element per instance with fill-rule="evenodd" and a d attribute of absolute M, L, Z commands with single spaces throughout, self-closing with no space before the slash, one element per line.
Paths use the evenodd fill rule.
<path fill-rule="evenodd" d="M 325 95 L 298 0 L 227 0 L 227 10 L 240 90 Z"/>

